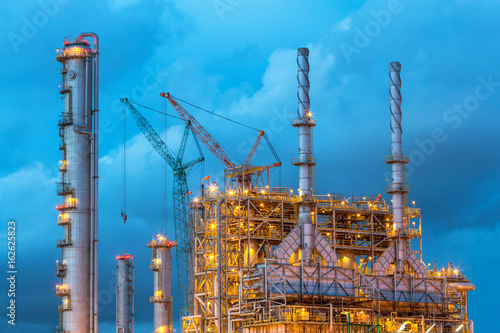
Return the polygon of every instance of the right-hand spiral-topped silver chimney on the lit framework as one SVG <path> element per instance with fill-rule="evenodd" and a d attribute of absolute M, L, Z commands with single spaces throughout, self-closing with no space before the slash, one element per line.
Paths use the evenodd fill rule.
<path fill-rule="evenodd" d="M 394 233 L 396 238 L 396 268 L 404 272 L 404 260 L 407 257 L 407 238 L 404 226 L 405 196 L 408 193 L 406 185 L 405 164 L 408 156 L 403 154 L 401 127 L 401 64 L 391 62 L 389 77 L 391 81 L 391 155 L 387 156 L 387 164 L 392 165 L 392 184 L 387 187 L 387 193 L 392 194 L 392 212 Z"/>

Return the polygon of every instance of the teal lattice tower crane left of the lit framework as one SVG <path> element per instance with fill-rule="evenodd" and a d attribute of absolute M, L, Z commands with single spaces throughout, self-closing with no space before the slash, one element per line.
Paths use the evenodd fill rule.
<path fill-rule="evenodd" d="M 153 148 L 158 154 L 167 162 L 167 164 L 174 171 L 174 224 L 175 224 L 175 238 L 177 239 L 177 278 L 178 278 L 178 291 L 179 291 L 179 305 L 181 318 L 189 316 L 193 310 L 193 285 L 194 285 L 194 263 L 191 256 L 192 242 L 191 242 L 191 227 L 189 224 L 189 194 L 187 185 L 187 175 L 189 171 L 204 160 L 200 151 L 201 157 L 187 163 L 183 163 L 184 151 L 186 150 L 186 143 L 189 135 L 189 130 L 193 130 L 190 120 L 186 120 L 186 127 L 184 135 L 182 136 L 181 144 L 177 157 L 172 150 L 163 142 L 160 136 L 155 132 L 151 124 L 147 121 L 142 114 L 131 104 L 127 98 L 122 98 L 121 102 L 124 103 L 135 123 L 144 134 L 146 139 L 151 143 Z M 196 136 L 195 140 L 196 140 Z M 198 145 L 198 142 L 196 141 Z M 198 148 L 199 145 L 198 145 Z"/>

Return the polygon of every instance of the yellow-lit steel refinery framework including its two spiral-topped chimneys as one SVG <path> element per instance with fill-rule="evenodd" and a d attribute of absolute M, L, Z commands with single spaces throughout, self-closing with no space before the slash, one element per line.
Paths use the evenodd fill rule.
<path fill-rule="evenodd" d="M 381 195 L 313 194 L 308 50 L 298 56 L 299 193 L 254 177 L 195 199 L 194 315 L 183 332 L 472 332 L 474 285 L 411 248 L 421 219 L 406 203 L 399 63 L 390 72 L 391 206 Z"/>

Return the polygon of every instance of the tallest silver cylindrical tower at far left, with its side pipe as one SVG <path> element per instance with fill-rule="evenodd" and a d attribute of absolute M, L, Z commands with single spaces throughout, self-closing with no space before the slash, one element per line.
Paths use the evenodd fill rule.
<path fill-rule="evenodd" d="M 83 37 L 92 37 L 96 48 Z M 61 259 L 56 275 L 62 283 L 56 295 L 59 330 L 97 333 L 97 131 L 98 131 L 98 39 L 81 34 L 65 40 L 57 51 L 61 63 L 60 93 L 64 111 L 59 118 L 59 164 L 61 202 L 58 224 L 63 228 L 57 241 Z M 92 97 L 94 96 L 94 104 Z"/>

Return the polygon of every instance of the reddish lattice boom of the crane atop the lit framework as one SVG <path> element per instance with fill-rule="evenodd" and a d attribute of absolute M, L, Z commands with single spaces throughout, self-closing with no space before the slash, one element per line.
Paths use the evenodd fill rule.
<path fill-rule="evenodd" d="M 184 121 L 191 121 L 191 129 L 193 133 L 222 163 L 224 163 L 227 168 L 234 168 L 236 166 L 217 141 L 215 141 L 215 139 L 203 128 L 203 126 L 200 125 L 200 123 L 198 123 L 193 116 L 191 116 L 172 98 L 172 96 L 170 96 L 170 93 L 161 93 L 160 95 L 168 99 L 170 104 L 172 104 L 174 109 L 177 111 L 179 116 L 184 119 Z"/>

